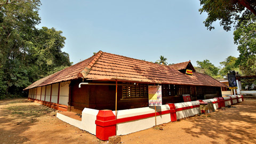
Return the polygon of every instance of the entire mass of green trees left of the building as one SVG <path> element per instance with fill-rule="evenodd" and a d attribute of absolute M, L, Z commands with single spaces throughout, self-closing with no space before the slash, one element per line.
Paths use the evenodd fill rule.
<path fill-rule="evenodd" d="M 0 1 L 0 99 L 25 95 L 37 79 L 70 66 L 65 37 L 40 23 L 39 0 Z"/>

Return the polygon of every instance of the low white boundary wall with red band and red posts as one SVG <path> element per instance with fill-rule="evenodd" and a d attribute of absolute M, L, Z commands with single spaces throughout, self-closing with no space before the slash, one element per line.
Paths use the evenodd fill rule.
<path fill-rule="evenodd" d="M 212 102 L 214 109 L 231 106 L 242 102 L 243 95 L 219 97 L 207 100 L 198 100 L 181 103 L 168 103 L 161 107 L 143 107 L 118 110 L 117 116 L 112 110 L 95 110 L 84 108 L 82 121 L 72 119 L 57 113 L 57 117 L 64 122 L 86 130 L 101 140 L 108 140 L 113 135 L 125 135 L 141 130 L 149 129 L 156 124 L 175 122 L 177 119 L 194 116 L 200 113 L 199 102 Z"/>

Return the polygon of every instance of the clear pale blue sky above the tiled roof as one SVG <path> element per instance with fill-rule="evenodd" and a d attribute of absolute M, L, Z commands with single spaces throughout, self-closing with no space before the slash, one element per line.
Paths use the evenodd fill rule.
<path fill-rule="evenodd" d="M 103 51 L 155 62 L 210 60 L 215 66 L 229 55 L 238 57 L 233 31 L 214 23 L 207 30 L 199 0 L 41 0 L 41 27 L 63 31 L 62 51 L 77 63 Z"/>

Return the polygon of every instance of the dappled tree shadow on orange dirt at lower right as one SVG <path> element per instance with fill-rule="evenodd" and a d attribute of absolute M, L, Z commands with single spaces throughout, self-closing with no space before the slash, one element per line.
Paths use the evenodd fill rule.
<path fill-rule="evenodd" d="M 245 100 L 242 103 L 233 105 L 234 107 L 211 113 L 211 117 L 197 116 L 188 119 L 186 121 L 193 123 L 193 129 L 184 128 L 184 130 L 196 138 L 200 135 L 205 135 L 214 139 L 215 141 L 210 141 L 211 143 L 219 143 L 218 140 L 221 138 L 224 138 L 227 143 L 244 143 L 245 141 L 256 143 L 255 103 L 256 100 Z M 241 125 L 241 122 L 245 122 L 245 124 Z M 195 132 L 194 128 L 199 129 L 199 131 Z M 251 132 L 248 132 L 250 129 Z"/>

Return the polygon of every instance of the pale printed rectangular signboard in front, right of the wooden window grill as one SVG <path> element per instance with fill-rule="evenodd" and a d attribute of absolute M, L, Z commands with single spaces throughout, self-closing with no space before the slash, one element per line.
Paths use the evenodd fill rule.
<path fill-rule="evenodd" d="M 148 106 L 162 106 L 162 86 L 148 86 Z"/>

